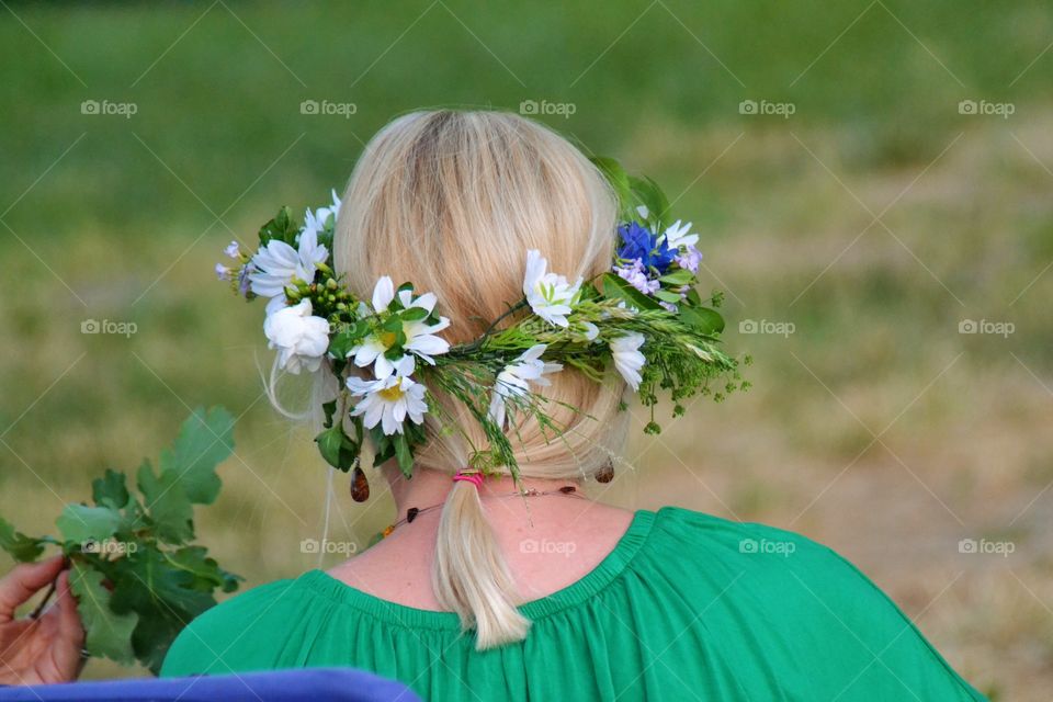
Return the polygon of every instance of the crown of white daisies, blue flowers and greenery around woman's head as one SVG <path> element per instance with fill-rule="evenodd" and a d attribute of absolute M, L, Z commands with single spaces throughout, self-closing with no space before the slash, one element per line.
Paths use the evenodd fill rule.
<path fill-rule="evenodd" d="M 268 298 L 263 332 L 278 351 L 278 366 L 293 374 L 331 373 L 339 382 L 315 441 L 330 465 L 353 469 L 356 500 L 369 497 L 360 465 L 366 432 L 374 465 L 395 458 L 411 477 L 414 452 L 426 441 L 426 415 L 469 442 L 468 472 L 488 475 L 507 466 L 518 484 L 506 429 L 532 417 L 546 437 L 562 435 L 563 427 L 546 412 L 553 400 L 534 388 L 550 385 L 550 376 L 566 366 L 599 383 L 613 365 L 650 408 L 647 433 L 660 431 L 654 420 L 659 392 L 668 392 L 672 414 L 680 416 L 683 400 L 695 394 L 721 400 L 748 387 L 738 361 L 718 348 L 724 320 L 714 308 L 722 294 L 703 299 L 694 290 L 702 253 L 691 223 L 670 223 L 669 202 L 650 179 L 629 176 L 613 159 L 592 160 L 620 201 L 610 270 L 571 282 L 550 271 L 541 251 L 526 251 L 523 296 L 469 343 L 451 346 L 442 338 L 450 320 L 439 314 L 435 295 L 412 283 L 396 287 L 385 275 L 371 299 L 348 290 L 332 263 L 336 191 L 332 204 L 308 210 L 303 225 L 282 207 L 260 229 L 254 253 L 237 241 L 226 248 L 236 264 L 217 264 L 216 273 L 247 299 Z M 352 366 L 366 377 L 349 373 Z M 711 382 L 722 377 L 722 388 L 712 390 Z M 488 445 L 472 443 L 437 392 L 467 408 Z"/>

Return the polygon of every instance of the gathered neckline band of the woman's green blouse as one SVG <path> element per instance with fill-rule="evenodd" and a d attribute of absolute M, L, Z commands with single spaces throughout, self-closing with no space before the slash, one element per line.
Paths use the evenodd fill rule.
<path fill-rule="evenodd" d="M 580 579 L 552 595 L 531 600 L 519 605 L 519 611 L 531 621 L 552 615 L 568 607 L 580 604 L 603 590 L 618 578 L 647 541 L 655 518 L 664 511 L 637 510 L 614 547 L 602 561 Z M 354 607 L 372 616 L 390 624 L 406 627 L 461 629 L 461 620 L 454 612 L 422 610 L 398 604 L 370 595 L 338 580 L 319 569 L 308 570 L 294 581 L 294 586 L 306 587 L 329 599 Z"/>

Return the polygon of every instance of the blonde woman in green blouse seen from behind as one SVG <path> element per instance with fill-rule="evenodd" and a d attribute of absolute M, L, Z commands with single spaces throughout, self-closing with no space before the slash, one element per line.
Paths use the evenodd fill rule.
<path fill-rule="evenodd" d="M 537 124 L 414 113 L 359 161 L 333 260 L 360 298 L 384 275 L 435 292 L 443 336 L 468 342 L 522 296 L 524 251 L 585 279 L 610 270 L 616 207 L 597 168 Z M 561 441 L 518 424 L 526 497 L 507 469 L 465 472 L 463 437 L 424 424 L 412 479 L 381 467 L 404 516 L 389 536 L 208 611 L 162 675 L 353 666 L 427 699 L 983 699 L 824 546 L 582 499 L 624 437 L 625 383 L 545 380 L 545 397 L 582 411 L 562 417 Z"/>

